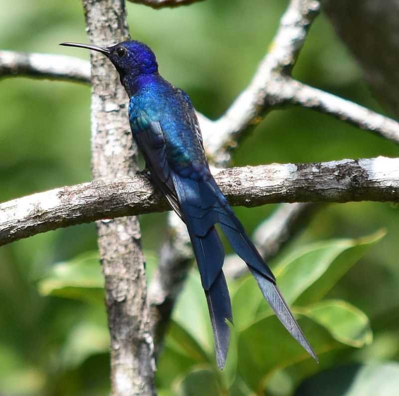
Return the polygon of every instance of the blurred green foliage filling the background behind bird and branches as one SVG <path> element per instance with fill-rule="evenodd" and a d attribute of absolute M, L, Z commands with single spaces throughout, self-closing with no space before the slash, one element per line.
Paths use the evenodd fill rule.
<path fill-rule="evenodd" d="M 127 9 L 132 37 L 148 43 L 162 74 L 215 118 L 251 79 L 286 4 L 206 0 L 164 10 L 128 3 Z M 79 1 L 0 0 L 0 23 L 3 49 L 66 54 L 59 42 L 87 41 Z M 67 54 L 88 58 L 78 49 Z M 310 30 L 294 76 L 384 112 L 323 15 Z M 0 81 L 1 201 L 90 180 L 89 107 L 88 86 Z M 398 153 L 395 144 L 341 121 L 285 108 L 270 113 L 241 142 L 233 161 L 239 166 Z M 236 211 L 250 232 L 274 207 Z M 141 221 L 151 268 L 163 241 L 165 214 L 141 216 Z M 253 282 L 243 279 L 230 285 L 235 327 L 227 366 L 217 371 L 194 271 L 159 362 L 160 395 L 216 395 L 229 389 L 234 396 L 288 396 L 305 378 L 296 396 L 327 395 L 320 391 L 325 384 L 332 384 L 334 396 L 393 395 L 399 370 L 397 224 L 398 208 L 391 204 L 329 205 L 272 263 L 319 353 L 319 365 L 270 316 Z M 374 246 L 382 227 L 387 236 Z M 0 394 L 108 394 L 108 336 L 95 250 L 93 224 L 0 248 Z M 376 391 L 367 381 L 388 385 Z"/>

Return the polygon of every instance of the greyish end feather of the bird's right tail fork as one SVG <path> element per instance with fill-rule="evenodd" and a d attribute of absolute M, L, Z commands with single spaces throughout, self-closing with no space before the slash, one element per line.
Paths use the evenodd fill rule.
<path fill-rule="evenodd" d="M 263 274 L 249 267 L 253 277 L 256 279 L 263 297 L 268 301 L 270 307 L 275 312 L 277 318 L 288 330 L 292 337 L 309 353 L 309 355 L 318 362 L 317 356 L 313 348 L 310 346 L 308 340 L 304 336 L 298 322 L 295 320 L 292 312 L 284 301 L 283 296 L 278 290 L 277 286 L 270 282 Z"/>

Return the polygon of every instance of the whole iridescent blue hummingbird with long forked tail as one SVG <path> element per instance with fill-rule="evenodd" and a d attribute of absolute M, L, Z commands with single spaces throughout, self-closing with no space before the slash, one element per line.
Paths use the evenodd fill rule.
<path fill-rule="evenodd" d="M 219 224 L 231 247 L 246 263 L 278 319 L 299 344 L 317 357 L 276 286 L 276 279 L 213 179 L 205 157 L 200 125 L 189 95 L 158 72 L 154 52 L 131 40 L 109 47 L 64 42 L 92 49 L 116 67 L 129 95 L 129 121 L 151 179 L 186 223 L 200 271 L 213 329 L 216 361 L 223 368 L 232 323 L 222 266 Z"/>

